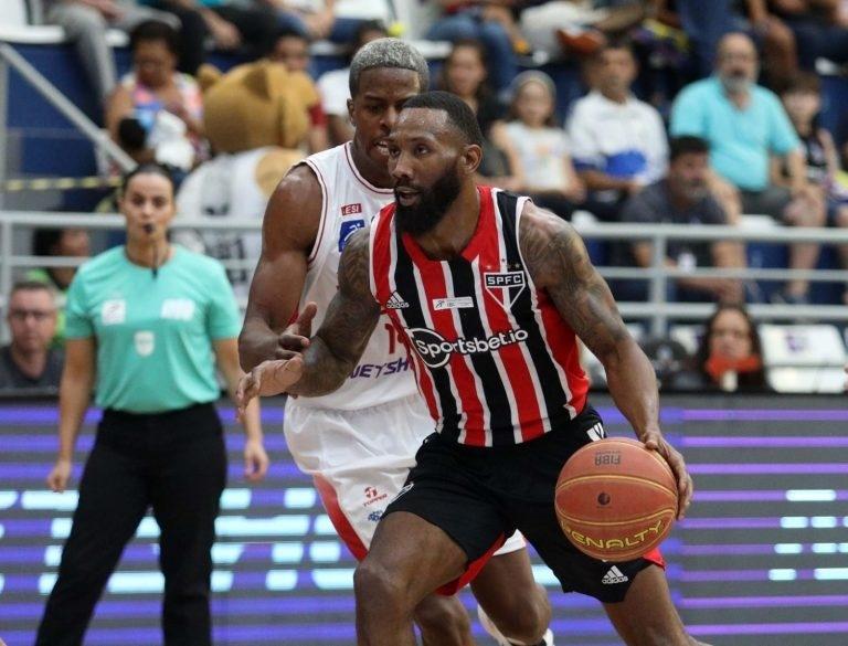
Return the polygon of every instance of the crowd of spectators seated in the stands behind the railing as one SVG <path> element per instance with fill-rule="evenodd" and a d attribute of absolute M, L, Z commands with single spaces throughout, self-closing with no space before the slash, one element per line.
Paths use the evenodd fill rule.
<path fill-rule="evenodd" d="M 286 151 L 287 168 L 351 138 L 348 68 L 315 77 L 311 45 L 329 40 L 352 55 L 396 29 L 338 15 L 335 4 L 49 0 L 46 18 L 62 25 L 75 44 L 92 92 L 102 97 L 103 125 L 110 137 L 136 161 L 156 160 L 174 169 L 182 183 L 180 216 L 261 219 L 268 191 L 285 168 L 266 178 L 265 183 L 273 180 L 269 187 L 239 194 L 239 182 L 232 181 L 242 177 L 235 156 L 261 150 L 251 158 L 255 166 L 263 163 L 259 158 L 265 159 L 269 147 L 278 147 Z M 451 43 L 448 55 L 434 61 L 433 85 L 462 97 L 485 135 L 480 182 L 530 194 L 563 219 L 581 210 L 602 222 L 738 225 L 741 214 L 755 213 L 786 226 L 848 227 L 848 186 L 840 174 L 848 149 L 840 150 L 844 142 L 819 124 L 822 85 L 815 73 L 819 57 L 848 63 L 848 2 L 431 0 L 417 9 L 423 22 L 415 32 Z M 129 34 L 131 70 L 123 77 L 117 76 L 106 28 Z M 277 100 L 274 92 L 285 93 L 275 87 L 286 86 L 285 78 L 309 76 L 316 98 L 298 106 L 290 96 L 278 99 L 286 104 L 280 110 L 288 112 L 279 118 L 276 141 L 258 138 L 252 144 L 250 134 L 240 131 L 232 138 L 250 145 L 223 146 L 221 136 L 210 131 L 221 131 L 209 108 L 211 88 L 222 78 L 221 71 L 205 63 L 210 51 L 234 52 L 240 65 L 223 78 L 241 75 L 245 96 L 271 93 Z M 543 60 L 550 65 L 540 66 Z M 579 68 L 584 84 L 584 95 L 568 113 L 558 108 L 558 95 L 573 92 L 543 71 L 556 65 Z M 273 68 L 289 76 L 279 81 Z M 300 94 L 311 96 L 309 92 Z M 293 110 L 303 112 L 307 124 L 296 136 L 285 131 L 297 121 Z M 245 261 L 255 260 L 259 244 L 243 234 L 211 240 L 202 232 L 180 242 L 219 258 L 240 254 Z M 815 268 L 819 247 L 792 244 L 788 266 Z M 87 236 L 75 230 L 41 233 L 34 251 L 89 254 Z M 612 264 L 648 267 L 651 244 L 622 243 L 611 257 Z M 848 268 L 848 245 L 839 248 L 839 258 Z M 676 241 L 666 254 L 666 266 L 678 269 L 743 268 L 745 263 L 744 245 L 735 242 Z M 25 332 L 28 342 L 47 335 L 41 345 L 52 351 L 54 335 L 61 337 L 61 318 L 40 315 L 61 311 L 72 274 L 51 268 L 25 276 L 28 282 L 10 297 L 7 319 L 13 337 L 39 327 L 38 333 Z M 236 292 L 250 282 L 248 273 L 242 274 L 231 275 Z M 35 284 L 47 289 L 34 289 Z M 710 358 L 719 352 L 713 336 L 729 333 L 717 331 L 724 318 L 748 326 L 736 336 L 746 335 L 748 351 L 759 356 L 755 328 L 739 306 L 762 299 L 754 280 L 681 277 L 669 284 L 670 299 L 720 304 L 707 325 L 707 349 L 692 364 L 698 383 L 722 381 L 716 368 L 721 361 Z M 647 296 L 644 283 L 612 282 L 612 287 L 621 300 Z M 787 280 L 773 298 L 807 304 L 809 284 Z M 3 350 L 0 382 L 21 383 L 22 375 L 31 382 L 38 367 L 50 372 L 52 354 L 20 361 L 23 351 L 15 343 L 13 338 L 11 349 Z M 761 373 L 756 379 L 762 385 Z"/>

